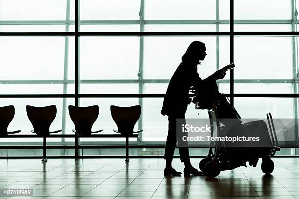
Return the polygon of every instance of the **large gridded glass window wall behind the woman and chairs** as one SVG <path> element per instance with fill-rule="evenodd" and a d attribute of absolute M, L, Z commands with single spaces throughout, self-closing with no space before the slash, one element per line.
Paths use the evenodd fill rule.
<path fill-rule="evenodd" d="M 16 108 L 9 129 L 17 126 L 28 134 L 25 105 L 55 104 L 51 129 L 72 134 L 67 106 L 97 104 L 100 115 L 93 129 L 111 134 L 116 125 L 110 105 L 140 104 L 135 129 L 144 131 L 130 142 L 164 144 L 168 120 L 160 114 L 163 95 L 193 40 L 206 44 L 206 59 L 198 65 L 202 79 L 235 62 L 234 74 L 227 72 L 217 83 L 220 92 L 234 97 L 242 118 L 265 118 L 267 112 L 298 118 L 298 41 L 291 32 L 297 31 L 296 1 L 237 0 L 234 13 L 231 6 L 230 0 L 0 0 L 0 95 L 10 95 L 0 98 L 0 106 Z M 30 96 L 37 94 L 44 98 Z M 186 118 L 207 117 L 194 104 L 188 107 Z M 1 139 L 1 144 L 40 141 Z M 64 145 L 74 139 L 49 141 Z M 81 142 L 120 144 L 124 139 Z M 88 149 L 87 154 L 101 153 Z"/>

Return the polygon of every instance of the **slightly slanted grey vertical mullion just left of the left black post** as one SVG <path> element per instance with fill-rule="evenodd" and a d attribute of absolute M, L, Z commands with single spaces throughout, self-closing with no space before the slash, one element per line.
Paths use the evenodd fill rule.
<path fill-rule="evenodd" d="M 66 0 L 66 16 L 65 20 L 69 21 L 70 0 Z M 69 23 L 65 24 L 65 32 L 69 31 Z M 67 71 L 68 71 L 68 37 L 65 37 L 64 43 L 64 94 L 67 94 Z M 63 99 L 63 115 L 62 115 L 62 134 L 65 134 L 65 118 L 66 118 L 66 98 Z M 64 145 L 65 138 L 61 138 Z M 65 154 L 64 154 L 65 155 Z"/>

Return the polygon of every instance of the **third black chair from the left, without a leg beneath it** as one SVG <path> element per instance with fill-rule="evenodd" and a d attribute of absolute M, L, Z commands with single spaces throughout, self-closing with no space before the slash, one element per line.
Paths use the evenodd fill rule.
<path fill-rule="evenodd" d="M 91 131 L 92 125 L 99 116 L 99 106 L 68 106 L 69 116 L 75 124 L 74 133 L 77 133 L 78 136 L 91 136 L 93 133 L 99 133 L 103 130 Z"/>

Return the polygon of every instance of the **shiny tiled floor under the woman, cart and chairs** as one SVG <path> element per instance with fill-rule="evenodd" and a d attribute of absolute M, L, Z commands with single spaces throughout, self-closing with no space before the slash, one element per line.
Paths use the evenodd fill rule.
<path fill-rule="evenodd" d="M 10 199 L 299 199 L 299 158 L 274 162 L 272 175 L 260 160 L 211 179 L 164 178 L 163 159 L 0 159 L 0 189 L 33 189 L 33 197 Z M 183 170 L 179 159 L 173 166 Z"/>

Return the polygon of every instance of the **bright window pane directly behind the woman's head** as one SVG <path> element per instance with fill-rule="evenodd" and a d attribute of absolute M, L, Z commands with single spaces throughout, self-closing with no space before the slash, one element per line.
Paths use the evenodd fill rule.
<path fill-rule="evenodd" d="M 206 59 L 198 65 L 199 77 L 204 79 L 214 73 L 216 70 L 216 37 L 144 37 L 144 78 L 171 79 L 182 56 L 194 40 L 204 42 L 207 49 Z M 223 44 L 223 46 L 228 44 Z M 226 48 L 221 57 L 226 57 L 227 54 L 229 50 Z M 220 65 L 222 64 L 225 66 L 228 63 L 221 60 Z"/>

